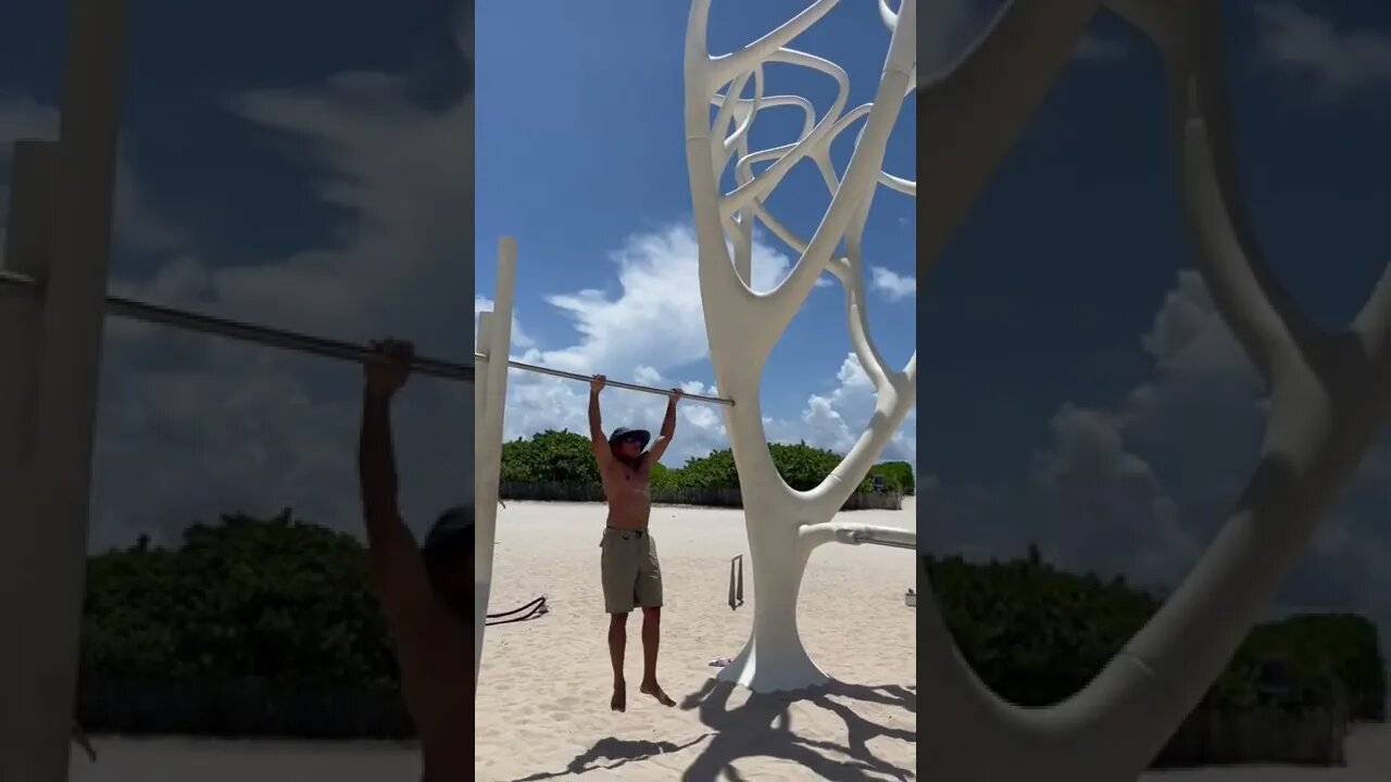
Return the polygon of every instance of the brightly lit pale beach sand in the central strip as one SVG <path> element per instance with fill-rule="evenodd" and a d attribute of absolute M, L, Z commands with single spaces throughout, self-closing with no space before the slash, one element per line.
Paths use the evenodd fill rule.
<path fill-rule="evenodd" d="M 911 527 L 903 511 L 843 520 Z M 609 711 L 612 673 L 600 593 L 601 505 L 509 502 L 499 511 L 490 611 L 545 593 L 551 612 L 488 629 L 476 707 L 480 781 L 906 779 L 917 775 L 912 552 L 826 545 L 812 555 L 798 621 L 807 648 L 839 682 L 814 700 L 715 686 L 709 661 L 739 653 L 753 622 L 730 611 L 729 559 L 748 554 L 743 513 L 661 506 L 652 540 L 666 608 L 659 675 L 677 701 L 637 693 L 640 619 L 629 630 L 629 708 Z"/>

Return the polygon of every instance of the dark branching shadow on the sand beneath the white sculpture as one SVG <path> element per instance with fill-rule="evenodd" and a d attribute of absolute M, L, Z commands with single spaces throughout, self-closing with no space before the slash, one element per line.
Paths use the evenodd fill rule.
<path fill-rule="evenodd" d="M 696 746 L 709 737 L 709 743 L 682 774 L 683 782 L 708 782 L 715 779 L 744 779 L 733 764 L 741 757 L 779 757 L 796 763 L 818 779 L 844 782 L 882 779 L 914 779 L 912 771 L 879 758 L 869 750 L 869 742 L 879 736 L 901 742 L 917 742 L 917 732 L 890 728 L 864 719 L 840 700 L 857 700 L 897 705 L 917 714 L 918 693 L 915 686 L 901 685 L 849 685 L 832 680 L 822 687 L 790 693 L 750 694 L 748 700 L 730 708 L 729 700 L 734 685 L 707 680 L 700 690 L 682 699 L 682 710 L 696 710 L 708 733 L 676 744 L 672 742 L 600 739 L 593 747 L 577 756 L 565 769 L 523 776 L 513 782 L 536 782 L 570 774 L 583 774 L 594 768 L 616 768 L 633 761 L 647 760 Z M 840 700 L 833 700 L 840 699 Z M 847 729 L 844 746 L 835 742 L 819 742 L 798 736 L 791 725 L 791 704 L 810 701 L 840 717 Z M 840 756 L 833 758 L 829 756 Z M 611 760 L 613 763 L 601 763 Z M 875 774 L 875 776 L 871 776 Z M 721 776 L 723 775 L 723 776 Z"/>

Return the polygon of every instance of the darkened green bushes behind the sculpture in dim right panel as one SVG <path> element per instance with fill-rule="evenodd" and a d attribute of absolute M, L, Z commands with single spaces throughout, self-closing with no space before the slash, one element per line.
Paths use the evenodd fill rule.
<path fill-rule="evenodd" d="M 929 557 L 928 572 L 961 653 L 997 693 L 1027 705 L 1054 703 L 1086 685 L 1161 604 L 1123 577 L 1059 570 L 1035 547 L 1010 562 Z M 1260 673 L 1271 667 L 1280 680 L 1267 689 Z M 1256 626 L 1199 708 L 1299 711 L 1345 703 L 1352 719 L 1380 721 L 1385 687 L 1370 621 L 1298 615 Z"/>

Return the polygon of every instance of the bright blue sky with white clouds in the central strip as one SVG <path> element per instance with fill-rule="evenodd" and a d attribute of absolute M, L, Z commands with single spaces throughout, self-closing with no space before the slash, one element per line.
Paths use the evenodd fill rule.
<path fill-rule="evenodd" d="M 715 3 L 709 46 L 737 49 L 803 7 L 796 0 Z M 485 150 L 476 179 L 479 295 L 490 298 L 494 289 L 498 238 L 513 235 L 522 333 L 515 356 L 661 387 L 708 385 L 683 146 L 687 7 L 602 1 L 545 8 L 545 25 L 533 24 L 537 8 L 526 4 L 480 4 L 477 13 L 477 135 Z M 876 11 L 847 3 L 793 46 L 846 68 L 855 106 L 874 97 L 887 43 Z M 835 96 L 829 78 L 790 67 L 771 67 L 768 79 L 768 93 L 801 95 L 822 110 Z M 908 178 L 914 121 L 910 99 L 886 161 Z M 761 115 L 755 149 L 794 139 L 797 122 L 791 111 Z M 846 134 L 836 146 L 842 167 L 851 143 Z M 815 170 L 801 166 L 769 203 L 810 237 L 829 198 Z M 871 302 L 875 338 L 899 366 L 914 351 L 914 214 L 911 198 L 882 189 L 865 239 L 867 274 L 879 282 Z M 764 242 L 762 276 L 780 278 L 779 269 L 794 257 L 772 237 Z M 762 401 L 775 419 L 771 437 L 843 451 L 868 422 L 872 397 L 857 384 L 858 365 L 846 369 L 844 299 L 829 274 L 823 282 L 775 349 Z M 583 431 L 583 385 L 520 373 L 509 383 L 509 437 L 552 427 Z M 606 426 L 659 423 L 659 398 L 615 391 L 605 401 Z M 693 404 L 665 461 L 680 465 L 725 445 L 714 410 Z M 911 419 L 886 458 L 915 458 Z"/>

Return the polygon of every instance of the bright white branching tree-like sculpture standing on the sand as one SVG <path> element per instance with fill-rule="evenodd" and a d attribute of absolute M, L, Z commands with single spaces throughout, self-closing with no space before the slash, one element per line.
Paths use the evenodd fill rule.
<path fill-rule="evenodd" d="M 694 0 L 686 33 L 686 164 L 690 171 L 696 230 L 700 239 L 700 287 L 709 337 L 711 362 L 726 408 L 725 430 L 739 469 L 754 573 L 753 636 L 721 672 L 755 692 L 800 689 L 826 682 L 797 635 L 797 593 L 811 551 L 823 543 L 879 540 L 912 543 L 899 529 L 832 523 L 855 486 L 903 422 L 917 398 L 917 355 L 899 372 L 874 346 L 867 319 L 861 237 L 876 188 L 882 184 L 915 195 L 915 182 L 883 174 L 885 145 L 912 93 L 917 63 L 915 0 L 894 13 L 881 3 L 892 31 L 889 54 L 874 103 L 847 110 L 850 82 L 835 63 L 789 49 L 797 35 L 819 21 L 839 0 L 819 0 L 787 24 L 744 49 L 712 57 L 707 46 L 709 0 Z M 839 90 L 819 113 L 798 96 L 765 96 L 764 65 L 780 63 L 819 71 Z M 750 97 L 744 90 L 753 85 Z M 714 120 L 711 118 L 712 109 Z M 759 111 L 801 111 L 801 132 L 783 146 L 750 150 L 748 132 Z M 860 128 L 854 154 L 843 175 L 830 160 L 830 145 Z M 810 239 L 772 216 L 765 200 L 801 160 L 812 161 L 832 193 L 821 225 Z M 733 161 L 733 191 L 721 192 L 721 177 Z M 759 171 L 754 166 L 765 164 Z M 800 253 L 789 276 L 769 292 L 754 292 L 754 224 Z M 839 256 L 839 250 L 844 256 Z M 764 433 L 759 384 L 764 365 L 817 278 L 833 274 L 846 291 L 850 341 L 878 391 L 874 417 L 840 465 L 811 491 L 794 491 L 773 466 Z"/>

